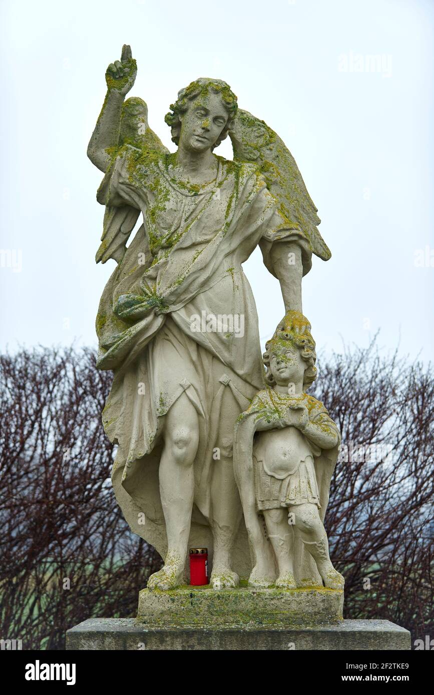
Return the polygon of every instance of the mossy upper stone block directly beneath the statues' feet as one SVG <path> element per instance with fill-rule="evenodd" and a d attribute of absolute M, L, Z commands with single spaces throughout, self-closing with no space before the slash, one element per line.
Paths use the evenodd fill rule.
<path fill-rule="evenodd" d="M 152 626 L 294 626 L 343 620 L 341 589 L 143 589 L 137 621 Z"/>

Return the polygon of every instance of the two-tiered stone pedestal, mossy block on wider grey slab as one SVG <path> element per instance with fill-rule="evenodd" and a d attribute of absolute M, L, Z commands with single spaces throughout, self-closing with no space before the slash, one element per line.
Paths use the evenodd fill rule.
<path fill-rule="evenodd" d="M 410 632 L 387 620 L 343 620 L 344 592 L 181 587 L 139 594 L 138 615 L 95 618 L 67 650 L 402 650 Z"/>

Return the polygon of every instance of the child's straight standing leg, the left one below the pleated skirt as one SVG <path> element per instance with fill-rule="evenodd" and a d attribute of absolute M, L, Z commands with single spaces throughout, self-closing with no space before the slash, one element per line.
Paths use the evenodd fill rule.
<path fill-rule="evenodd" d="M 264 518 L 273 550 L 278 561 L 279 576 L 276 587 L 296 589 L 292 555 L 294 548 L 294 530 L 288 524 L 288 510 L 264 509 Z"/>

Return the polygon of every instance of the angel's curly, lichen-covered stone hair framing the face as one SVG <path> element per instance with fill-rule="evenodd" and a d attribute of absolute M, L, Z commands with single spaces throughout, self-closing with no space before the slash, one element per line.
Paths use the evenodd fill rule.
<path fill-rule="evenodd" d="M 236 110 L 238 108 L 236 95 L 234 95 L 234 92 L 232 92 L 227 82 L 224 82 L 223 80 L 211 79 L 210 77 L 200 77 L 194 82 L 191 82 L 188 87 L 179 90 L 178 98 L 175 101 L 175 104 L 170 104 L 170 111 L 169 113 L 166 113 L 166 116 L 164 117 L 164 120 L 168 126 L 170 126 L 172 131 L 172 142 L 175 142 L 175 145 L 179 145 L 179 135 L 181 133 L 181 120 L 179 119 L 179 114 L 187 111 L 190 101 L 193 101 L 193 99 L 198 97 L 200 94 L 207 95 L 209 90 L 215 94 L 220 94 L 229 116 L 223 131 L 221 131 L 220 136 L 214 143 L 212 149 L 214 149 L 214 147 L 218 147 L 220 142 L 225 140 L 227 137 L 227 133 L 234 125 Z"/>

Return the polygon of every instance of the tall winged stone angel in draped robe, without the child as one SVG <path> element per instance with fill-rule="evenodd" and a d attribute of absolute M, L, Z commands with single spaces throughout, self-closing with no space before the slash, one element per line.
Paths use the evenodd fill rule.
<path fill-rule="evenodd" d="M 96 321 L 97 367 L 114 375 L 103 413 L 118 445 L 113 487 L 131 530 L 164 559 L 149 589 L 185 581 L 189 546 L 209 548 L 211 587 L 234 587 L 251 569 L 234 423 L 264 389 L 242 264 L 259 245 L 286 311 L 301 311 L 312 253 L 330 252 L 291 154 L 264 122 L 239 111 L 227 83 L 200 78 L 178 92 L 166 115 L 177 151 L 168 152 L 147 125 L 145 102 L 123 104 L 136 70 L 124 46 L 106 71 L 88 146 L 105 174 L 97 262 L 118 264 Z M 214 154 L 228 133 L 234 161 Z"/>

